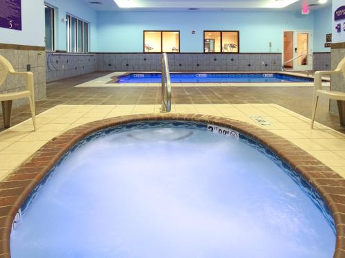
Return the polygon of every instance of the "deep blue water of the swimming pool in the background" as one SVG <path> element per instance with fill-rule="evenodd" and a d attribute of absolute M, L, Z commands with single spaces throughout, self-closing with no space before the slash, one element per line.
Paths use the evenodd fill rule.
<path fill-rule="evenodd" d="M 117 83 L 161 83 L 160 73 L 132 73 L 118 77 Z M 312 79 L 280 73 L 170 73 L 172 83 L 225 82 L 313 82 Z"/>

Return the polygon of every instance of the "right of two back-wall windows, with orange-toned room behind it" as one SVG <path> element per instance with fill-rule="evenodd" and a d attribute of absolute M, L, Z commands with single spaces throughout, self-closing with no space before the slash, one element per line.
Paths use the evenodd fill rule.
<path fill-rule="evenodd" d="M 239 31 L 204 31 L 204 53 L 239 53 Z"/>

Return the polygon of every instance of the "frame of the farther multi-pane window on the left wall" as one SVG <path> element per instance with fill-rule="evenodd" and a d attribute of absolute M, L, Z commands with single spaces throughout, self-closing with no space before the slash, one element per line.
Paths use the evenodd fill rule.
<path fill-rule="evenodd" d="M 90 46 L 90 33 L 89 33 L 89 28 L 90 28 L 90 22 L 84 20 L 84 19 L 80 19 L 74 15 L 70 15 L 69 13 L 66 13 L 66 30 L 67 30 L 67 53 L 75 53 L 75 54 L 88 54 L 89 53 L 89 46 Z M 71 29 L 71 24 L 72 24 L 72 19 L 76 20 L 75 23 L 75 31 L 72 32 Z M 79 22 L 81 22 L 81 51 L 78 51 L 78 43 L 79 43 Z M 86 44 L 84 42 L 84 24 L 87 24 L 87 32 L 86 32 Z M 72 49 L 72 33 L 75 33 L 75 48 Z M 84 46 L 86 46 L 87 49 L 84 49 Z"/>

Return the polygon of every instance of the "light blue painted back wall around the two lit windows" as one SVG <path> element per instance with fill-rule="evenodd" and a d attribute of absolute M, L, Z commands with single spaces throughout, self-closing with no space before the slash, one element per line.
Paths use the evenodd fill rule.
<path fill-rule="evenodd" d="M 143 30 L 181 30 L 181 52 L 204 52 L 203 30 L 240 30 L 240 52 L 282 52 L 283 30 L 313 30 L 300 12 L 98 12 L 99 52 L 142 52 Z M 195 35 L 192 34 L 195 30 Z"/>

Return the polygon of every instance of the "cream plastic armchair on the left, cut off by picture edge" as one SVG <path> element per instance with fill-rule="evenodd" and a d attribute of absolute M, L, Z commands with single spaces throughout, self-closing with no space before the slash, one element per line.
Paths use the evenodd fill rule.
<path fill-rule="evenodd" d="M 12 100 L 17 100 L 19 98 L 28 98 L 30 102 L 34 131 L 36 131 L 36 116 L 34 111 L 34 75 L 31 72 L 14 71 L 14 68 L 12 67 L 10 62 L 8 62 L 8 59 L 0 55 L 0 86 L 3 84 L 3 82 L 5 82 L 8 74 L 26 76 L 26 86 L 25 91 L 4 94 L 0 93 L 0 101 L 3 109 L 3 122 L 5 123 L 5 127 L 10 127 Z"/>

